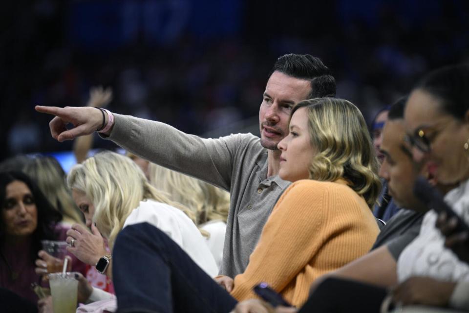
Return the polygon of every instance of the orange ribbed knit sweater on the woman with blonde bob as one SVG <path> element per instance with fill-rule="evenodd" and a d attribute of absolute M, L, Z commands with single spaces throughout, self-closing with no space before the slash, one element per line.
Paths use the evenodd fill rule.
<path fill-rule="evenodd" d="M 315 279 L 367 253 L 378 232 L 370 208 L 344 180 L 298 180 L 277 201 L 231 294 L 256 298 L 253 287 L 267 282 L 299 307 Z"/>

